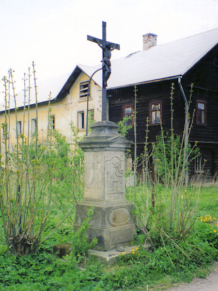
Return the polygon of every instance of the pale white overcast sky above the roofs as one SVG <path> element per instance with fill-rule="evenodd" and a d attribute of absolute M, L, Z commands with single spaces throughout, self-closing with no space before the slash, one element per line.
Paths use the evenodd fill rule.
<path fill-rule="evenodd" d="M 38 80 L 100 63 L 102 51 L 87 34 L 101 38 L 102 21 L 107 40 L 121 46 L 115 59 L 141 50 L 147 32 L 159 45 L 217 28 L 218 0 L 0 0 L 0 80 L 13 68 L 22 89 L 32 61 Z"/>

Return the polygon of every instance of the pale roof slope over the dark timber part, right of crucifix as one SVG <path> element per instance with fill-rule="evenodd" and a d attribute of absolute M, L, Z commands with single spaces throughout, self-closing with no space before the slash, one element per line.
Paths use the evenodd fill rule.
<path fill-rule="evenodd" d="M 114 60 L 108 89 L 184 76 L 217 43 L 214 29 Z"/>

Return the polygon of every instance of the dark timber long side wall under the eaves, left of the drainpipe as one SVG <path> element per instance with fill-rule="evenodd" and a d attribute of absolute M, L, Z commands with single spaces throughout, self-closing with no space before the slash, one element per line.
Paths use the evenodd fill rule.
<path fill-rule="evenodd" d="M 171 128 L 171 81 L 154 82 L 137 86 L 137 143 L 145 142 L 146 118 L 149 117 L 149 103 L 155 100 L 162 101 L 162 122 L 165 131 Z M 114 89 L 109 91 L 109 120 L 118 122 L 123 118 L 123 106 L 134 105 L 134 86 Z M 176 134 L 181 134 L 181 118 L 184 112 L 184 102 L 181 102 L 179 86 L 176 80 L 173 95 L 174 109 L 174 130 Z M 148 142 L 155 142 L 156 136 L 160 134 L 160 124 L 149 126 Z M 131 129 L 127 138 L 134 140 L 134 131 Z"/>

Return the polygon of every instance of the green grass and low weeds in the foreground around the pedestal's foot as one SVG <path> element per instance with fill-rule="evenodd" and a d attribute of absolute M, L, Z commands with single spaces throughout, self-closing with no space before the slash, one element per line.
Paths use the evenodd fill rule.
<path fill-rule="evenodd" d="M 140 190 L 138 193 L 140 193 Z M 163 190 L 163 189 L 162 189 Z M 203 187 L 200 192 L 198 217 L 218 218 L 217 187 Z M 55 224 L 55 211 L 50 226 Z M 52 222 L 53 221 L 53 222 Z M 72 241 L 72 225 L 66 221 L 37 254 L 10 256 L 0 244 L 0 290 L 4 291 L 138 291 L 163 290 L 172 283 L 189 282 L 194 276 L 205 277 L 217 259 L 217 226 L 197 219 L 186 242 L 171 241 L 147 252 L 140 245 L 143 235 L 136 236 L 139 249 L 122 256 L 113 266 L 105 266 L 85 256 L 70 255 L 65 260 L 50 254 L 52 245 Z M 49 229 L 47 229 L 49 231 Z M 140 254 L 140 256 L 139 256 Z M 81 270 L 79 265 L 84 267 Z"/>

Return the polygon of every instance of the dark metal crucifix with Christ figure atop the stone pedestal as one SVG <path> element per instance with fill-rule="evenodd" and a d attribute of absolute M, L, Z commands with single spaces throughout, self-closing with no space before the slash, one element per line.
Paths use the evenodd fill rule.
<path fill-rule="evenodd" d="M 102 39 L 87 35 L 87 40 L 95 42 L 102 49 L 102 120 L 107 120 L 107 81 L 111 74 L 111 51 L 120 49 L 120 45 L 106 40 L 106 22 L 102 21 Z"/>

